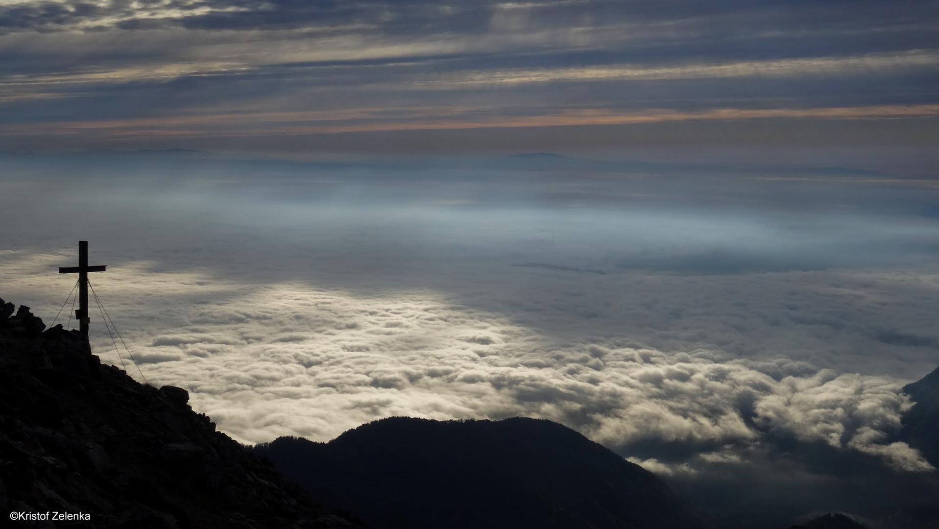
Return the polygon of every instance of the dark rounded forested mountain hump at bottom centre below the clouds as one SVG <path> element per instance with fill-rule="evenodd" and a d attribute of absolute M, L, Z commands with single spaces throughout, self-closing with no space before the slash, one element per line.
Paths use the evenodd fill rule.
<path fill-rule="evenodd" d="M 380 529 L 703 527 L 654 475 L 545 420 L 394 417 L 254 451 Z"/>

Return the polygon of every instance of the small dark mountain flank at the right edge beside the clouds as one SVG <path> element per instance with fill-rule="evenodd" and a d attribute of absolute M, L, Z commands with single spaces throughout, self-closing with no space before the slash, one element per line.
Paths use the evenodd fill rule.
<path fill-rule="evenodd" d="M 902 439 L 939 468 L 939 368 L 922 380 L 903 386 L 903 393 L 916 405 L 901 419 Z"/>

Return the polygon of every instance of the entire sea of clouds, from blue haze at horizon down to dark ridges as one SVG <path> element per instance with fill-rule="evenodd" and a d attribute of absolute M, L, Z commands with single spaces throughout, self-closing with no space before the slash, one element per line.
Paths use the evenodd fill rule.
<path fill-rule="evenodd" d="M 939 363 L 939 224 L 877 200 L 903 185 L 802 207 L 776 179 L 163 168 L 5 181 L 0 295 L 51 323 L 74 282 L 55 267 L 90 240 L 128 373 L 241 442 L 528 415 L 664 475 L 780 436 L 932 470 L 893 439 L 902 385 Z M 100 317 L 92 343 L 122 365 Z"/>

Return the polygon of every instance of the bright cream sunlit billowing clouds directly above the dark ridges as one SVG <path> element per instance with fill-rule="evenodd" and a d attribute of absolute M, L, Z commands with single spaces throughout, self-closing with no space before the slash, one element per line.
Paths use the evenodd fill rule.
<path fill-rule="evenodd" d="M 509 272 L 503 281 L 525 279 Z M 893 377 L 759 354 L 625 345 L 635 336 L 544 335 L 433 291 L 375 297 L 281 284 L 232 295 L 239 287 L 219 278 L 153 274 L 141 264 L 111 273 L 98 282 L 101 296 L 156 293 L 146 309 L 178 322 L 163 332 L 125 329 L 147 379 L 189 389 L 197 410 L 245 442 L 325 441 L 392 415 L 528 415 L 622 450 L 641 442 L 746 446 L 769 432 L 858 450 L 904 471 L 931 470 L 905 443 L 888 443 L 911 405 Z M 562 272 L 549 273 L 558 275 L 546 285 L 566 282 Z M 222 302 L 212 299 L 220 288 L 228 291 Z M 552 302 L 538 304 L 550 313 Z M 134 323 L 144 323 L 145 307 L 111 305 L 120 319 L 138 313 Z M 108 345 L 99 335 L 96 350 L 117 363 Z"/>

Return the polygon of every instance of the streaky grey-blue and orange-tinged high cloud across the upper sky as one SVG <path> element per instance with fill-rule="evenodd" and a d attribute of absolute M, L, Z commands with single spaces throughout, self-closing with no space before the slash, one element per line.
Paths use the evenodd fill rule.
<path fill-rule="evenodd" d="M 227 114 L 228 133 L 298 143 L 479 127 L 512 141 L 513 129 L 558 124 L 594 127 L 599 138 L 610 124 L 810 114 L 873 128 L 903 119 L 891 127 L 914 137 L 916 120 L 932 116 L 939 41 L 931 3 L 903 6 L 17 2 L 0 8 L 0 133 L 28 148 L 63 122 L 125 120 L 126 132 L 82 146 L 224 145 L 207 121 Z M 393 112 L 378 116 L 376 101 L 394 101 Z M 298 126 L 316 113 L 353 118 Z M 168 121 L 134 130 L 156 116 Z M 748 135 L 799 141 L 785 125 L 763 129 Z M 881 135 L 896 136 L 867 133 Z M 46 148 L 69 146 L 79 147 Z"/>

